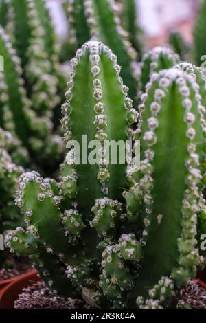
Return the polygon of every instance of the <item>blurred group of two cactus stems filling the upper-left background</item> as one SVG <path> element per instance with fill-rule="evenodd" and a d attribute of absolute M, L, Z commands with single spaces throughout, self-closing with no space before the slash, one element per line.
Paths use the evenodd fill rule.
<path fill-rule="evenodd" d="M 52 21 L 43 0 L 3 0 L 0 9 L 6 31 L 1 28 L 1 78 L 8 97 L 0 125 L 19 139 L 34 167 L 51 174 L 63 148 L 55 128 L 65 92 Z"/>

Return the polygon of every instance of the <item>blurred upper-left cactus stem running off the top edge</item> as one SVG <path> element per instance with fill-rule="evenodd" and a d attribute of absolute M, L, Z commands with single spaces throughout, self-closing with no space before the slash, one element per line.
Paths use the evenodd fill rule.
<path fill-rule="evenodd" d="M 44 13 L 42 7 L 45 8 L 43 0 L 8 1 L 8 23 L 5 29 L 21 58 L 32 107 L 38 109 L 38 113 L 46 114 L 58 101 L 58 96 L 55 96 L 58 79 L 52 75 L 54 54 L 48 53 L 50 47 L 45 43 L 52 36 L 47 36 L 47 29 L 41 21 Z"/>

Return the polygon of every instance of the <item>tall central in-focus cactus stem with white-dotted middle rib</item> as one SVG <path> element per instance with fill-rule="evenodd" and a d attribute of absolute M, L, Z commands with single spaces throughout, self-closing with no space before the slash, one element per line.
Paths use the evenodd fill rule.
<path fill-rule="evenodd" d="M 88 142 L 126 142 L 127 118 L 131 115 L 133 123 L 137 120 L 138 113 L 132 109 L 132 101 L 127 97 L 128 88 L 119 78 L 120 67 L 117 65 L 116 56 L 102 43 L 91 41 L 83 45 L 82 49 L 78 49 L 76 58 L 71 63 L 73 71 L 69 90 L 65 93 L 67 102 L 62 107 L 65 114 L 62 126 L 67 129 L 65 139 L 70 139 L 72 133 L 73 139 L 80 143 L 80 151 L 82 135 L 87 135 Z M 111 92 L 111 88 L 115 91 Z M 86 109 L 87 123 L 84 124 L 82 120 L 85 118 Z M 101 155 L 102 153 L 99 166 L 88 163 L 76 165 L 76 201 L 82 213 L 87 214 L 95 200 L 101 196 L 119 199 L 122 188 L 126 187 L 126 165 L 119 164 L 119 154 L 117 165 L 111 164 L 110 161 L 105 162 Z M 90 201 L 87 198 L 88 194 L 91 196 Z"/>

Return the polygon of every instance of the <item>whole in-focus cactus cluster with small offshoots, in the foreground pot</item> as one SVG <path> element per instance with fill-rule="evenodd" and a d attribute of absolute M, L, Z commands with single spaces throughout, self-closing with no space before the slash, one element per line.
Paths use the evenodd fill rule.
<path fill-rule="evenodd" d="M 170 68 L 179 60 L 169 49 L 155 53 L 137 112 L 115 54 L 84 43 L 71 60 L 61 124 L 65 142 L 102 143 L 99 163 L 76 164 L 71 148 L 58 181 L 25 172 L 16 190 L 25 229 L 5 244 L 29 255 L 56 293 L 82 293 L 93 307 L 174 307 L 205 261 L 196 240 L 205 225 L 205 78 L 193 65 Z M 139 172 L 104 159 L 104 140 L 139 138 Z"/>

